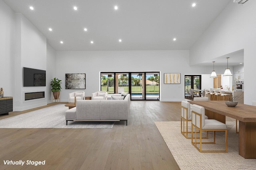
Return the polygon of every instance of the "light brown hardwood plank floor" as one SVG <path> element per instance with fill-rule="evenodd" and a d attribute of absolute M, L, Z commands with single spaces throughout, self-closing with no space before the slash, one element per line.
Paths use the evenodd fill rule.
<path fill-rule="evenodd" d="M 180 121 L 180 102 L 132 101 L 128 126 L 111 129 L 0 129 L 0 170 L 179 170 L 154 121 Z"/>

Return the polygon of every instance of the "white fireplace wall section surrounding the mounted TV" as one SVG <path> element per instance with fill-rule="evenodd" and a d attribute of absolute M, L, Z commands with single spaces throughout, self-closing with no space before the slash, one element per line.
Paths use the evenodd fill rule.
<path fill-rule="evenodd" d="M 22 14 L 16 13 L 15 111 L 46 105 L 46 98 L 24 100 L 25 92 L 45 91 L 46 87 L 23 87 L 23 67 L 46 70 L 46 38 Z M 45 94 L 46 95 L 46 94 Z"/>

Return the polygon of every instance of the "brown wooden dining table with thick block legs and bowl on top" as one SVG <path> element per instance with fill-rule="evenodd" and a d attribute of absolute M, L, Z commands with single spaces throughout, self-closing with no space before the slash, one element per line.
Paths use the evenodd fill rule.
<path fill-rule="evenodd" d="M 239 155 L 256 158 L 256 106 L 228 107 L 224 101 L 188 101 L 205 108 L 205 115 L 226 123 L 226 116 L 239 120 Z"/>

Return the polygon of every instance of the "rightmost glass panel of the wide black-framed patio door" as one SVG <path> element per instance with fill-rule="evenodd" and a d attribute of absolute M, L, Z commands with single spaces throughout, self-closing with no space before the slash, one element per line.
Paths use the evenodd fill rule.
<path fill-rule="evenodd" d="M 159 100 L 159 72 L 146 73 L 146 100 Z"/>

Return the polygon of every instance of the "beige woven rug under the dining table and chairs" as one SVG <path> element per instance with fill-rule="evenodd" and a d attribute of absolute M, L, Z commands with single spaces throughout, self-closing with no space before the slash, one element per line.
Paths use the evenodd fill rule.
<path fill-rule="evenodd" d="M 228 126 L 228 152 L 200 153 L 180 133 L 180 122 L 155 122 L 170 152 L 181 170 L 256 170 L 256 159 L 244 159 L 238 154 L 239 134 L 235 122 Z M 216 142 L 224 142 L 224 133 L 216 133 Z"/>

